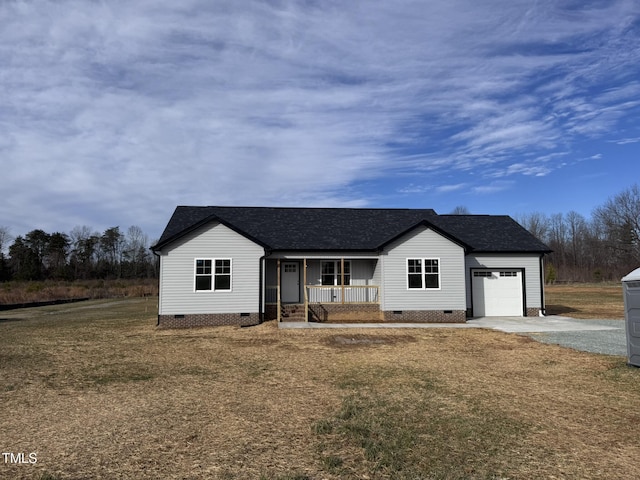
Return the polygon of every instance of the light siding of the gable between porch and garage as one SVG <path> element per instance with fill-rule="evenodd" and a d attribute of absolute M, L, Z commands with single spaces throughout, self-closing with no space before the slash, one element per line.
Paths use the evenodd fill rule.
<path fill-rule="evenodd" d="M 408 288 L 408 259 L 437 259 L 440 288 Z M 464 249 L 448 238 L 418 227 L 389 245 L 381 261 L 383 310 L 465 309 Z"/>

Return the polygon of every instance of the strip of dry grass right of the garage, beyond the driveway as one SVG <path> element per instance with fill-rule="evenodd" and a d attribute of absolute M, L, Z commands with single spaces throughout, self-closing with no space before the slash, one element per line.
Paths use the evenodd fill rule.
<path fill-rule="evenodd" d="M 623 319 L 622 284 L 575 283 L 545 286 L 547 313 L 573 318 Z"/>

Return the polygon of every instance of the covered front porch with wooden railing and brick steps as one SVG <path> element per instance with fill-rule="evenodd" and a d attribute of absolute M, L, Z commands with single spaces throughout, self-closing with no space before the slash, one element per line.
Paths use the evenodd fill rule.
<path fill-rule="evenodd" d="M 376 269 L 375 258 L 268 261 L 266 318 L 278 323 L 380 321 L 380 286 L 372 284 Z"/>

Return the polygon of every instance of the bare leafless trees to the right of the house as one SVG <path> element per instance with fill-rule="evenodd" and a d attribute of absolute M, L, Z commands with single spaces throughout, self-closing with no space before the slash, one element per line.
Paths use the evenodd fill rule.
<path fill-rule="evenodd" d="M 596 207 L 587 219 L 575 211 L 529 213 L 516 220 L 553 253 L 546 281 L 617 281 L 640 267 L 640 187 L 637 184 Z"/>

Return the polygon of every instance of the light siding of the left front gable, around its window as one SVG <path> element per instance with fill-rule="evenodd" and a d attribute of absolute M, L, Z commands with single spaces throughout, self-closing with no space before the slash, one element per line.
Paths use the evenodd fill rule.
<path fill-rule="evenodd" d="M 159 314 L 258 312 L 262 255 L 262 247 L 220 223 L 185 235 L 161 252 Z M 196 291 L 197 259 L 212 260 L 213 277 L 216 276 L 215 260 L 229 260 L 230 289 Z M 219 267 L 219 276 L 227 275 L 224 262 Z M 215 285 L 215 278 L 212 283 Z"/>

